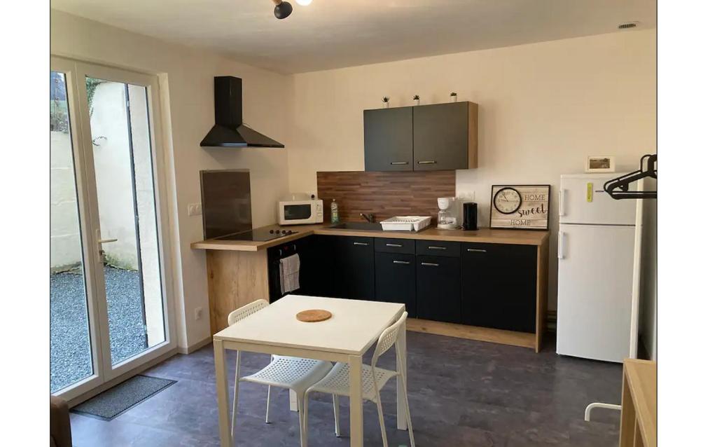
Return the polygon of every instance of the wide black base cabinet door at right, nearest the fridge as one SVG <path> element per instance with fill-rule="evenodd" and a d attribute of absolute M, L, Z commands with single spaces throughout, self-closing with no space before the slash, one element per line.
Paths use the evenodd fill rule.
<path fill-rule="evenodd" d="M 535 332 L 537 248 L 461 244 L 461 322 Z"/>

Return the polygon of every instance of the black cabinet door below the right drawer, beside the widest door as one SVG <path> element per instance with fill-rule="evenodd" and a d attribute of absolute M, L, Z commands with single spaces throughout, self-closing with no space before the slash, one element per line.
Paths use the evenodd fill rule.
<path fill-rule="evenodd" d="M 460 323 L 460 258 L 422 255 L 416 259 L 418 318 Z"/>

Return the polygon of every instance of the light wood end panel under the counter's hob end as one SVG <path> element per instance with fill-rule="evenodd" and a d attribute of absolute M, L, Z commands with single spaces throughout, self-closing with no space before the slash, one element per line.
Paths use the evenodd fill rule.
<path fill-rule="evenodd" d="M 212 334 L 227 327 L 227 316 L 234 309 L 260 298 L 269 301 L 266 250 L 207 250 L 206 274 Z"/>

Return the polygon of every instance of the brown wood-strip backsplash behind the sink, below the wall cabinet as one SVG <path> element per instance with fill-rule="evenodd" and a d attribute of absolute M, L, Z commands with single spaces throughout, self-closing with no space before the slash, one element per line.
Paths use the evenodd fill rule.
<path fill-rule="evenodd" d="M 331 222 L 331 199 L 342 221 L 361 221 L 360 212 L 373 213 L 376 222 L 393 216 L 431 216 L 436 223 L 438 197 L 455 196 L 455 171 L 317 172 L 323 215 Z"/>

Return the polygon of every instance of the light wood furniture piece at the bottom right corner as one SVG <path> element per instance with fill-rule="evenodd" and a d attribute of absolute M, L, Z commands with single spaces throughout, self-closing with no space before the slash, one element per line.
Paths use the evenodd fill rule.
<path fill-rule="evenodd" d="M 625 380 L 630 385 L 645 447 L 657 446 L 657 364 L 648 360 L 625 359 Z"/>

